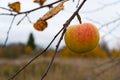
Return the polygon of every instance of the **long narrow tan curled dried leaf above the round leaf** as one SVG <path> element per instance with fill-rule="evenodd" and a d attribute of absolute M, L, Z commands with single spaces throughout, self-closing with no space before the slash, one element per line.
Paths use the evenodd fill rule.
<path fill-rule="evenodd" d="M 47 19 L 53 17 L 54 15 L 56 15 L 59 11 L 61 11 L 64 8 L 63 4 L 66 1 L 67 0 L 63 0 L 57 6 L 53 7 L 52 9 L 50 9 L 45 15 L 43 15 L 42 19 L 43 20 L 47 20 Z"/>

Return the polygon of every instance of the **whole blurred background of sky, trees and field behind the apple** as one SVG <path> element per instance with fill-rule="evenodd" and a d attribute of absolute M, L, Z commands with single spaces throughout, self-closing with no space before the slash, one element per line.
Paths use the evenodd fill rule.
<path fill-rule="evenodd" d="M 22 18 L 25 14 L 17 15 L 11 26 L 14 16 L 9 15 L 11 12 L 8 4 L 15 1 L 0 1 L 0 80 L 6 80 L 22 65 L 27 63 L 29 59 L 39 54 L 38 51 L 43 51 L 83 0 L 65 2 L 64 9 L 47 20 L 48 26 L 44 31 L 35 30 L 33 24 L 49 11 L 49 7 L 40 8 L 29 13 L 23 20 Z M 33 0 L 17 1 L 21 3 L 20 12 L 40 6 L 38 3 L 34 3 Z M 42 6 L 55 1 L 57 0 L 46 0 Z M 56 5 L 57 3 L 52 6 Z M 119 80 L 119 7 L 120 0 L 87 0 L 79 14 L 83 23 L 93 23 L 99 29 L 99 45 L 93 51 L 76 54 L 65 46 L 63 39 L 59 46 L 57 58 L 45 79 Z M 72 20 L 71 24 L 79 24 L 77 17 Z M 54 40 L 44 55 L 18 75 L 16 80 L 38 80 L 40 78 L 55 52 L 60 35 Z M 6 39 L 6 46 L 4 46 Z"/>

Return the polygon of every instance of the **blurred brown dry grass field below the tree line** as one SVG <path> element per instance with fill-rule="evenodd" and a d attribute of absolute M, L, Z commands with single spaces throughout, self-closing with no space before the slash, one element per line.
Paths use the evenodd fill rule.
<path fill-rule="evenodd" d="M 30 58 L 0 60 L 0 80 L 7 80 Z M 50 58 L 40 57 L 14 80 L 40 80 Z M 56 58 L 45 80 L 120 80 L 120 59 Z"/>

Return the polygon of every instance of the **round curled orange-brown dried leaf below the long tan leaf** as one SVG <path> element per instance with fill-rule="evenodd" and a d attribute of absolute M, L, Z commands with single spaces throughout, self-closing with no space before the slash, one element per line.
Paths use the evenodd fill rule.
<path fill-rule="evenodd" d="M 34 28 L 39 31 L 43 31 L 47 27 L 47 22 L 41 18 L 34 23 Z"/>

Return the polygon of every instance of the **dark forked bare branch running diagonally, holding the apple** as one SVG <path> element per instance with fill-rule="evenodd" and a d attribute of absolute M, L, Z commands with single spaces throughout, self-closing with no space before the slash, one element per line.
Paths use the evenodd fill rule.
<path fill-rule="evenodd" d="M 64 36 L 64 33 L 66 31 L 66 28 L 68 27 L 68 25 L 70 24 L 70 22 L 74 19 L 74 17 L 78 14 L 79 10 L 81 9 L 81 7 L 83 6 L 83 4 L 86 2 L 86 0 L 84 0 L 81 5 L 78 7 L 78 9 L 73 13 L 73 15 L 65 22 L 65 24 L 63 25 L 63 28 L 55 35 L 55 37 L 53 38 L 53 40 L 50 42 L 50 44 L 41 52 L 39 53 L 38 55 L 36 55 L 34 58 L 32 58 L 26 65 L 24 65 L 20 70 L 18 70 L 13 76 L 11 76 L 8 80 L 12 80 L 14 79 L 21 71 L 23 71 L 28 65 L 30 65 L 35 59 L 37 59 L 41 54 L 44 54 L 47 49 L 50 47 L 50 45 L 54 42 L 54 40 L 57 38 L 57 36 L 62 32 L 62 35 L 56 45 L 56 49 L 55 49 L 55 52 L 54 52 L 54 55 L 48 65 L 48 67 L 46 68 L 45 72 L 43 73 L 42 77 L 41 77 L 41 80 L 43 80 L 45 78 L 45 76 L 47 75 L 49 69 L 50 69 L 50 66 L 52 65 L 53 61 L 54 61 L 54 58 L 57 54 L 57 51 L 58 51 L 58 48 L 59 48 L 59 45 L 63 39 L 63 36 Z"/>

